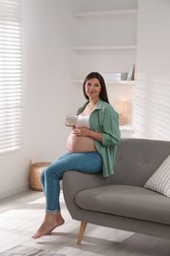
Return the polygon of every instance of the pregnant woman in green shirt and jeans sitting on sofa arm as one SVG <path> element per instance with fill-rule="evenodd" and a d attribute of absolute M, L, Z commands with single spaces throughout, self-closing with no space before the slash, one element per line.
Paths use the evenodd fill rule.
<path fill-rule="evenodd" d="M 120 141 L 118 113 L 109 104 L 105 82 L 99 73 L 91 72 L 86 76 L 83 91 L 87 100 L 78 110 L 76 126 L 70 126 L 68 153 L 52 162 L 40 176 L 46 209 L 42 224 L 32 236 L 34 239 L 50 234 L 54 228 L 64 224 L 59 196 L 60 180 L 65 171 L 102 171 L 104 177 L 114 172 Z"/>

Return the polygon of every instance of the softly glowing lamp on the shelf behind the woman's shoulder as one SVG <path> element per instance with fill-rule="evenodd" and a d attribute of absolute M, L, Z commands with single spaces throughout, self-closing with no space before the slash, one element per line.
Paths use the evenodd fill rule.
<path fill-rule="evenodd" d="M 128 119 L 128 102 L 122 99 L 117 100 L 114 104 L 114 108 L 119 114 L 119 125 L 126 125 Z"/>

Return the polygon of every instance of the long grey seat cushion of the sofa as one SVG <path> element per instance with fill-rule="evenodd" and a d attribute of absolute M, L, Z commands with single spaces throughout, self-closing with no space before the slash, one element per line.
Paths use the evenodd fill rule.
<path fill-rule="evenodd" d="M 86 189 L 75 200 L 85 210 L 170 224 L 170 199 L 142 187 L 107 185 Z"/>

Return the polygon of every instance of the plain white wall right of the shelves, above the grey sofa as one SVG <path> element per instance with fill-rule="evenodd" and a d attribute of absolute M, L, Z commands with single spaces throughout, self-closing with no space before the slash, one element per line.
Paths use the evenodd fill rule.
<path fill-rule="evenodd" d="M 136 136 L 170 140 L 170 1 L 140 0 Z"/>

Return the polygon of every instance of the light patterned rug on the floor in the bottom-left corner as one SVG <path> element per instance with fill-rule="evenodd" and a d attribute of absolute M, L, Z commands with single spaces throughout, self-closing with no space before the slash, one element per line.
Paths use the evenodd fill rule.
<path fill-rule="evenodd" d="M 0 253 L 2 256 L 65 256 L 65 254 L 57 253 L 56 251 L 46 251 L 25 245 L 18 245 L 7 251 Z"/>

